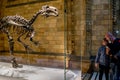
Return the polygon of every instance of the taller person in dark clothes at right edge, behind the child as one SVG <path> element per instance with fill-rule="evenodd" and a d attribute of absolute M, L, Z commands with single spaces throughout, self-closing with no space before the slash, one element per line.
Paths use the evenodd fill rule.
<path fill-rule="evenodd" d="M 112 55 L 111 62 L 114 64 L 114 67 L 112 67 L 112 70 L 114 70 L 113 80 L 120 80 L 120 38 L 116 38 L 110 32 L 105 35 L 105 38 L 109 42 L 109 53 Z"/>

